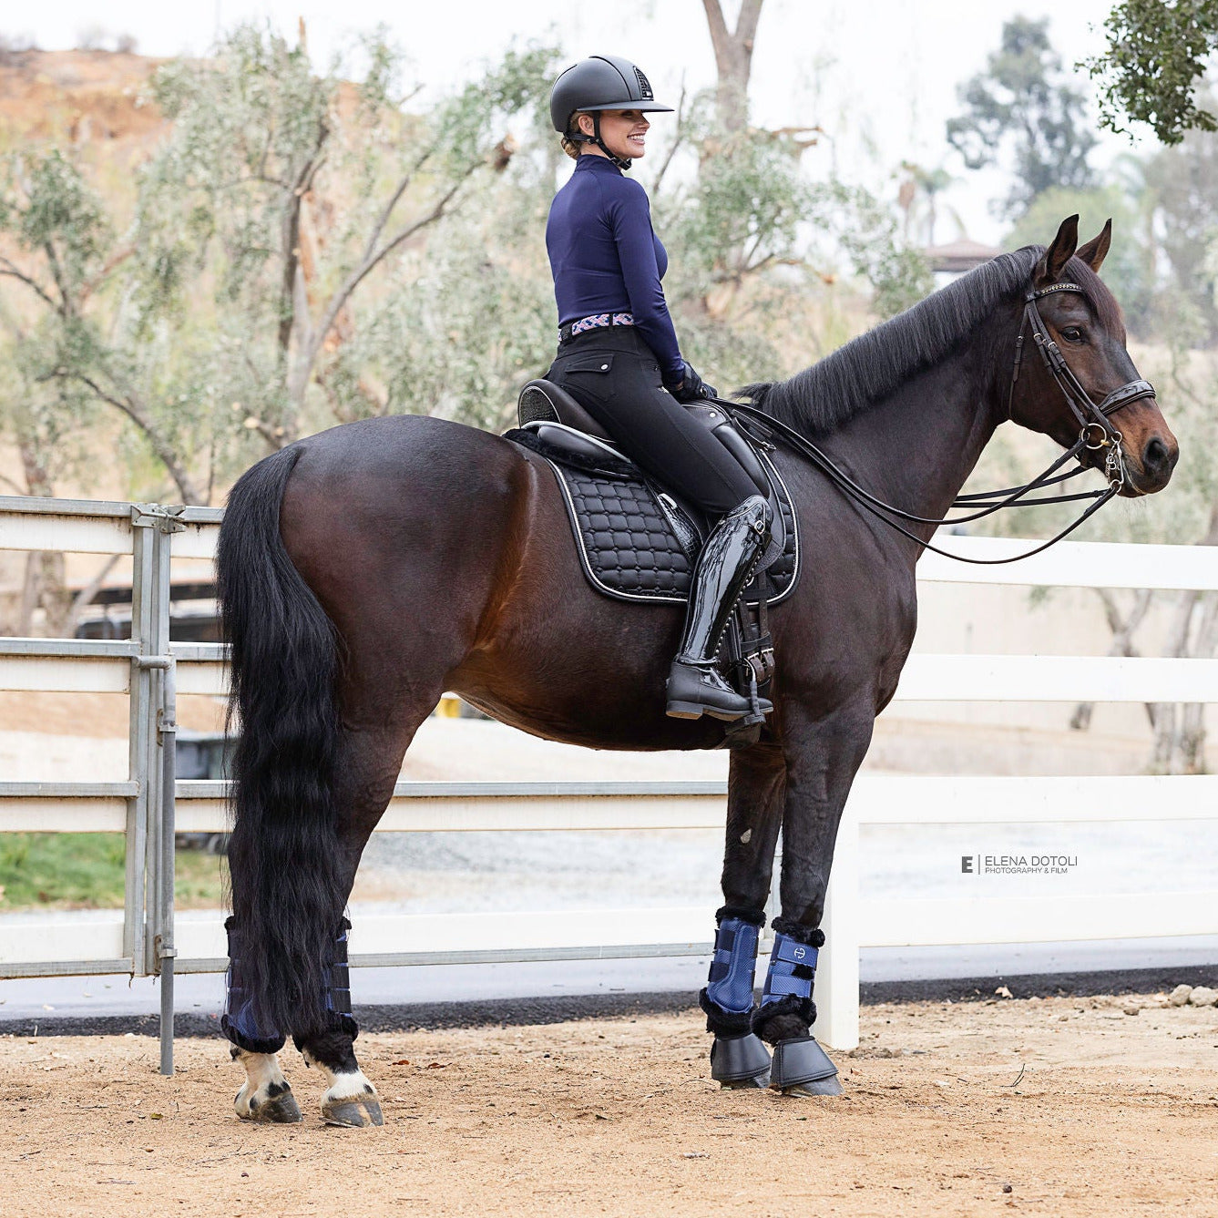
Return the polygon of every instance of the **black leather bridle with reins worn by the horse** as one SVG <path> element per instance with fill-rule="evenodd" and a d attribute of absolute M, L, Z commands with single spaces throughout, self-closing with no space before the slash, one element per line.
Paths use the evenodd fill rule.
<path fill-rule="evenodd" d="M 1060 283 L 1050 284 L 1047 287 L 1033 289 L 1023 298 L 1023 315 L 1019 320 L 1019 330 L 1015 339 L 1015 362 L 1011 369 L 1011 385 L 1007 391 L 1007 419 L 1011 418 L 1011 410 L 1013 408 L 1015 400 L 1015 384 L 1019 379 L 1019 370 L 1023 362 L 1024 351 L 1024 330 L 1030 330 L 1032 341 L 1040 352 L 1040 358 L 1044 362 L 1045 369 L 1049 375 L 1056 382 L 1057 387 L 1062 391 L 1066 398 L 1066 404 L 1069 407 L 1071 413 L 1074 415 L 1075 421 L 1079 424 L 1080 431 L 1078 440 L 1071 445 L 1044 473 L 1039 474 L 1030 482 L 1026 482 L 1023 486 L 1009 486 L 999 491 L 982 491 L 972 495 L 957 495 L 952 501 L 952 508 L 965 508 L 971 512 L 968 515 L 952 516 L 937 519 L 933 516 L 920 516 L 911 512 L 905 512 L 901 508 L 896 508 L 890 503 L 884 503 L 883 499 L 877 498 L 870 491 L 861 487 L 857 482 L 850 477 L 818 445 L 814 443 L 806 436 L 801 435 L 789 424 L 783 423 L 781 419 L 776 419 L 772 414 L 767 414 L 765 410 L 756 406 L 743 402 L 725 402 L 721 398 L 714 398 L 716 404 L 721 406 L 728 414 L 737 421 L 741 428 L 758 442 L 772 447 L 767 441 L 772 436 L 781 436 L 792 448 L 797 452 L 803 453 L 811 463 L 823 473 L 834 486 L 842 491 L 848 498 L 853 499 L 859 507 L 870 512 L 877 519 L 883 520 L 884 524 L 895 529 L 898 532 L 909 537 L 911 541 L 917 542 L 918 546 L 933 551 L 935 554 L 942 554 L 944 558 L 952 558 L 960 563 L 972 563 L 978 566 L 998 566 L 1004 563 L 1017 563 L 1023 558 L 1030 558 L 1033 554 L 1039 554 L 1041 551 L 1047 549 L 1050 546 L 1056 544 L 1063 537 L 1068 537 L 1079 525 L 1083 524 L 1089 516 L 1094 515 L 1100 508 L 1104 507 L 1111 498 L 1117 496 L 1125 485 L 1125 459 L 1124 452 L 1121 447 L 1122 435 L 1110 421 L 1110 417 L 1116 414 L 1123 407 L 1129 406 L 1132 402 L 1136 402 L 1139 398 L 1153 397 L 1155 387 L 1150 381 L 1135 380 L 1128 381 L 1119 389 L 1114 389 L 1102 402 L 1094 402 L 1090 393 L 1083 387 L 1079 379 L 1074 375 L 1069 364 L 1066 362 L 1066 357 L 1062 354 L 1057 343 L 1049 336 L 1049 331 L 1045 328 L 1044 318 L 1040 315 L 1040 309 L 1037 308 L 1037 301 L 1044 296 L 1049 296 L 1052 292 L 1079 292 L 1083 296 L 1086 295 L 1085 289 L 1078 284 L 1072 283 Z M 1104 476 L 1107 479 L 1107 487 L 1102 491 L 1082 491 L 1074 495 L 1050 495 L 1041 496 L 1037 498 L 1027 498 L 1033 491 L 1044 490 L 1047 486 L 1060 486 L 1062 482 L 1069 481 L 1072 477 L 1078 477 L 1079 474 L 1085 474 L 1088 470 L 1086 465 L 1083 465 L 1080 453 L 1084 451 L 1096 452 L 1100 449 L 1107 449 L 1107 456 L 1104 462 Z M 1062 468 L 1072 458 L 1079 458 L 1078 469 L 1068 470 L 1065 474 L 1058 474 L 1057 470 Z M 915 525 L 962 525 L 968 524 L 973 520 L 980 520 L 984 516 L 993 515 L 995 512 L 1000 512 L 1002 508 L 1026 508 L 1034 507 L 1046 503 L 1073 503 L 1078 501 L 1093 501 L 1090 507 L 1083 512 L 1082 515 L 1073 524 L 1068 525 L 1055 537 L 1049 541 L 1043 542 L 1037 546 L 1035 549 L 1029 549 L 1023 554 L 1016 554 L 1012 558 L 965 558 L 962 554 L 952 554 L 950 551 L 939 549 L 928 541 L 923 541 L 917 533 L 906 529 L 900 521 L 906 521 Z"/>

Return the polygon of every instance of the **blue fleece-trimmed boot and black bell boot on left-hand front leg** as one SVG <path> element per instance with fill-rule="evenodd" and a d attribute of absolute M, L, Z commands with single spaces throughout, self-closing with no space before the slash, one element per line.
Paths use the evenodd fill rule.
<path fill-rule="evenodd" d="M 706 988 L 698 1002 L 706 1012 L 710 1077 L 725 1088 L 765 1088 L 770 1084 L 770 1052 L 754 1035 L 753 973 L 765 915 L 725 906 L 715 915 L 715 956 Z"/>

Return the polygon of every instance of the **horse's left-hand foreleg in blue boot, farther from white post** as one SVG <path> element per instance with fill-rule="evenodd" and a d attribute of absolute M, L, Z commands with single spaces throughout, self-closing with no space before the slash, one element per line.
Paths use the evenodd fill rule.
<path fill-rule="evenodd" d="M 723 906 L 699 1004 L 715 1034 L 710 1074 L 726 1088 L 766 1086 L 770 1054 L 753 1034 L 753 979 L 782 823 L 783 759 L 772 745 L 732 754 L 727 784 Z"/>

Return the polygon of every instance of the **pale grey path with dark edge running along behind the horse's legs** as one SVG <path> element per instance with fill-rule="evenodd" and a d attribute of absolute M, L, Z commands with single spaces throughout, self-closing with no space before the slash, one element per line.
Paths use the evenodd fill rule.
<path fill-rule="evenodd" d="M 708 956 L 546 963 L 359 968 L 356 1016 L 369 1029 L 537 1024 L 607 1015 L 681 1011 L 705 983 Z M 978 1000 L 1005 985 L 1033 994 L 1157 993 L 1218 987 L 1218 935 L 973 948 L 864 949 L 862 1002 Z M 218 1033 L 219 974 L 175 983 L 179 1035 Z M 152 978 L 45 977 L 0 982 L 0 1034 L 152 1033 Z"/>

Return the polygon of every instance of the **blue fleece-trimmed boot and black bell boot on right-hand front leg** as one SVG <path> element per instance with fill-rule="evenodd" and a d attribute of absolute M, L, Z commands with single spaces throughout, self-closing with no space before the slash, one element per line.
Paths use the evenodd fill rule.
<path fill-rule="evenodd" d="M 837 1067 L 816 1038 L 783 1034 L 816 1022 L 812 982 L 825 932 L 808 931 L 787 918 L 775 918 L 772 924 L 770 970 L 761 1006 L 753 1015 L 754 1029 L 767 1032 L 766 1039 L 773 1044 L 770 1086 L 783 1095 L 840 1095 Z"/>

